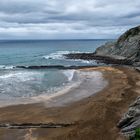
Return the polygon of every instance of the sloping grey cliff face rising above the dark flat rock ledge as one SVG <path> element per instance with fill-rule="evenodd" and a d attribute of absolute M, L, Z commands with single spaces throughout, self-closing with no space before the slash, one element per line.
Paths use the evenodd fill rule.
<path fill-rule="evenodd" d="M 140 26 L 132 28 L 119 37 L 116 42 L 99 47 L 97 55 L 125 57 L 140 66 Z"/>

